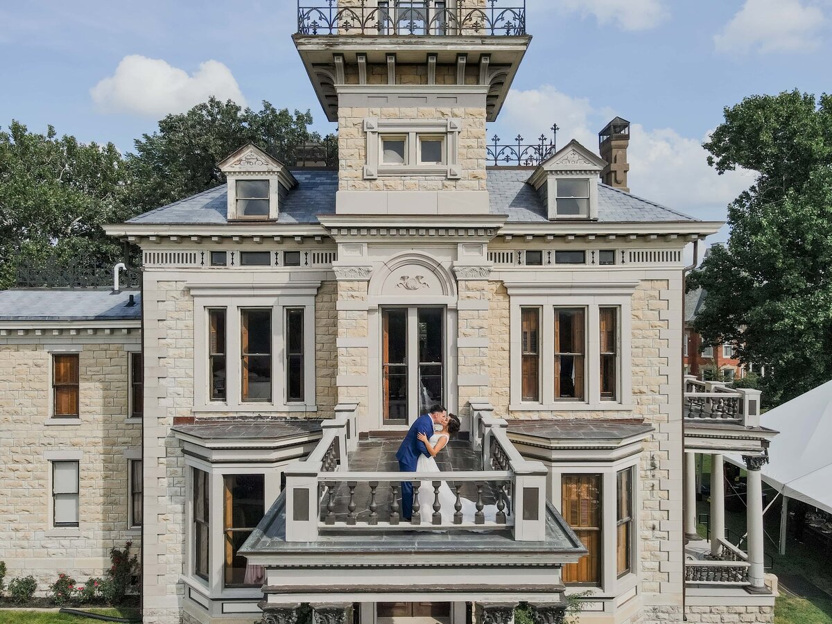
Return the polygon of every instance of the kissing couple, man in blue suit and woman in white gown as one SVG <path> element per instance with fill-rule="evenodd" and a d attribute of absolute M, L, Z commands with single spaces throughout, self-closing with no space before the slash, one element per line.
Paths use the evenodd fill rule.
<path fill-rule="evenodd" d="M 448 445 L 452 435 L 459 432 L 459 418 L 441 405 L 433 405 L 428 414 L 423 414 L 411 425 L 404 436 L 396 459 L 399 460 L 399 471 L 403 473 L 438 473 L 441 472 L 436 463 L 436 456 Z M 418 488 L 419 516 L 424 523 L 432 522 L 433 503 L 435 503 L 433 481 L 423 481 Z M 477 506 L 468 498 L 460 498 L 463 518 L 466 522 L 473 521 L 473 514 Z M 402 482 L 402 518 L 411 520 L 413 516 L 414 484 L 410 481 Z M 453 523 L 454 505 L 457 503 L 456 494 L 448 487 L 448 483 L 441 482 L 439 487 L 439 504 L 441 506 L 443 524 Z M 496 518 L 495 505 L 483 508 L 485 519 L 493 521 Z"/>

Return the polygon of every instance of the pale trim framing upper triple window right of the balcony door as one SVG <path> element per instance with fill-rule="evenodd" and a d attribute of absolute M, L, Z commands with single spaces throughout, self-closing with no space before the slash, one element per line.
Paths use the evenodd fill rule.
<path fill-rule="evenodd" d="M 540 324 L 541 400 L 522 401 L 521 308 L 542 308 Z M 554 397 L 554 309 L 584 308 L 587 319 L 584 400 Z M 618 398 L 601 399 L 601 344 L 598 335 L 599 309 L 617 307 L 618 311 Z M 510 411 L 598 411 L 632 409 L 631 298 L 622 295 L 512 295 L 510 303 Z"/>

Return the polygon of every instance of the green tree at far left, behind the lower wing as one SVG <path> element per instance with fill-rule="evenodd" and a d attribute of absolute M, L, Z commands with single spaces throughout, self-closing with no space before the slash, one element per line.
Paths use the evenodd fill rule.
<path fill-rule="evenodd" d="M 126 167 L 112 143 L 0 129 L 0 288 L 13 285 L 21 259 L 60 265 L 78 257 L 115 261 L 121 245 L 106 223 L 123 220 Z M 47 260 L 48 259 L 48 260 Z"/>

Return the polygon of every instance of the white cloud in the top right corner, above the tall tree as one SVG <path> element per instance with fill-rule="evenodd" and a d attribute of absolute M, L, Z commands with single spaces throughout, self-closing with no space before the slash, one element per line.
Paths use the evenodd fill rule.
<path fill-rule="evenodd" d="M 800 0 L 745 0 L 714 36 L 719 52 L 801 52 L 820 45 L 820 7 Z"/>

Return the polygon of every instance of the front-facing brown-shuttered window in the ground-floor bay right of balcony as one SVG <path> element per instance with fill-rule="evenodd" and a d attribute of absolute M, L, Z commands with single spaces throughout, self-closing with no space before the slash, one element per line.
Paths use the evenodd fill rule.
<path fill-rule="evenodd" d="M 561 477 L 563 518 L 589 553 L 562 567 L 565 583 L 601 582 L 601 475 L 564 474 Z"/>

